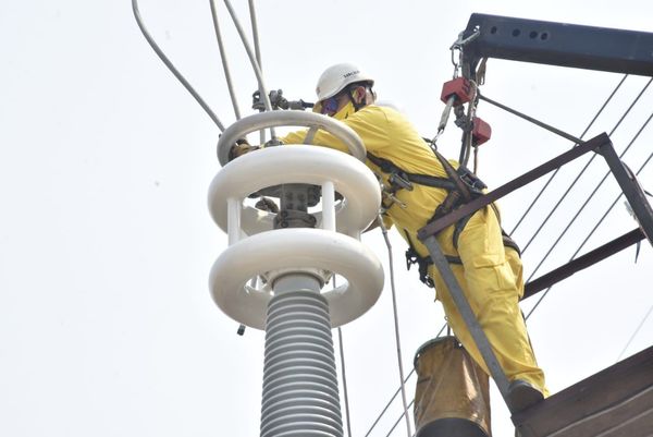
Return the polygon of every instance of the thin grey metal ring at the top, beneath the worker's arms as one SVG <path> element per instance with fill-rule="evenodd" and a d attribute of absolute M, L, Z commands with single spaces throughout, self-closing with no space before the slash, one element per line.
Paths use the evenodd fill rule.
<path fill-rule="evenodd" d="M 218 159 L 222 166 L 229 162 L 229 150 L 239 138 L 254 131 L 273 126 L 309 126 L 315 132 L 323 129 L 342 141 L 349 153 L 365 162 L 366 150 L 356 132 L 346 124 L 326 116 L 304 111 L 270 111 L 245 117 L 229 126 L 218 141 Z M 309 135 L 310 136 L 310 135 Z"/>

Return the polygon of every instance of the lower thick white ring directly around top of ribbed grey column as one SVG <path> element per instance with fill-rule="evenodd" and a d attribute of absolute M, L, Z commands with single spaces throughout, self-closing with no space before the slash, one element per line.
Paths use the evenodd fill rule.
<path fill-rule="evenodd" d="M 220 255 L 209 277 L 213 301 L 234 320 L 263 329 L 271 290 L 257 290 L 247 282 L 279 269 L 323 269 L 346 279 L 322 293 L 333 327 L 366 313 L 383 289 L 379 258 L 358 240 L 321 229 L 279 229 L 241 240 Z"/>

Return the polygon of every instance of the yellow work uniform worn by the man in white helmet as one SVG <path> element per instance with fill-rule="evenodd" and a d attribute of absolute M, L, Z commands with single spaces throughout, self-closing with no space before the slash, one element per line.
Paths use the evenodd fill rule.
<path fill-rule="evenodd" d="M 352 104 L 348 104 L 334 118 L 352 128 L 362 139 L 367 151 L 375 157 L 387 159 L 408 173 L 446 178 L 433 151 L 398 111 L 370 105 L 355 112 Z M 305 136 L 306 131 L 294 132 L 283 137 L 282 142 L 301 144 Z M 317 132 L 312 144 L 348 151 L 344 143 L 324 131 Z M 385 185 L 390 185 L 389 174 L 369 159 L 366 163 Z M 408 244 L 420 256 L 427 256 L 428 250 L 418 240 L 417 231 L 432 218 L 447 192 L 417 183 L 412 186 L 411 191 L 396 192 L 395 196 L 405 207 L 399 202 L 390 205 L 385 211 L 385 222 L 396 226 Z M 439 233 L 438 241 L 445 255 L 457 256 L 463 262 L 461 265 L 452 264 L 452 270 L 508 380 L 527 380 L 546 396 L 544 374 L 537 365 L 518 305 L 523 294 L 521 262 L 516 251 L 504 247 L 495 211 L 485 207 L 473 214 L 459 234 L 457 248 L 454 247 L 453 233 L 454 226 L 451 226 Z M 429 275 L 435 283 L 436 299 L 442 302 L 452 329 L 477 363 L 488 372 L 433 265 L 429 268 Z"/>

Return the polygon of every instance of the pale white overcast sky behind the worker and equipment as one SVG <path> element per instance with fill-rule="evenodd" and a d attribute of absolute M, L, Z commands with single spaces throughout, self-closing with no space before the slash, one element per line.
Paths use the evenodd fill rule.
<path fill-rule="evenodd" d="M 238 3 L 249 28 L 246 2 Z M 223 4 L 220 11 L 241 109 L 251 113 L 255 77 Z M 141 0 L 140 12 L 177 68 L 232 123 L 209 2 Z M 653 31 L 653 5 L 643 0 L 259 1 L 267 85 L 312 101 L 325 66 L 357 62 L 377 77 L 380 98 L 432 136 L 441 85 L 453 71 L 448 47 L 472 12 Z M 207 286 L 225 247 L 206 206 L 219 171 L 218 129 L 149 48 L 128 1 L 4 1 L 0 40 L 0 435 L 258 435 L 263 333 L 236 336 L 237 324 L 214 306 Z M 490 60 L 483 90 L 580 135 L 620 77 Z M 612 130 L 645 82 L 629 77 L 587 137 Z M 613 135 L 618 151 L 652 107 L 648 89 Z M 479 171 L 491 186 L 570 147 L 488 104 L 479 114 L 493 128 Z M 458 137 L 451 124 L 441 149 L 457 156 Z M 634 170 L 652 139 L 649 126 L 626 155 Z M 525 253 L 527 276 L 603 177 L 600 161 Z M 522 245 L 581 165 L 560 172 L 517 231 Z M 653 187 L 653 165 L 640 180 Z M 565 263 L 613 202 L 615 184 L 605 185 L 538 276 Z M 502 202 L 506 229 L 540 186 Z M 620 202 L 589 248 L 633 228 Z M 380 235 L 365 241 L 385 263 Z M 417 274 L 405 272 L 398 235 L 393 243 L 409 369 L 443 313 Z M 529 319 L 553 392 L 614 364 L 651 308 L 651 246 L 633 259 L 629 248 L 556 286 Z M 390 288 L 343 331 L 352 426 L 361 436 L 398 386 Z M 648 348 L 652 336 L 649 317 L 625 356 Z M 399 411 L 397 400 L 371 435 L 385 436 Z M 500 402 L 493 421 L 495 436 L 512 435 Z M 404 425 L 393 435 L 405 435 Z"/>

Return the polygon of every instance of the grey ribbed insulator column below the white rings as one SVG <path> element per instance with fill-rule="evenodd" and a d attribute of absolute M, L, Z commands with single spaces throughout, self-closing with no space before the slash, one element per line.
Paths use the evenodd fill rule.
<path fill-rule="evenodd" d="M 270 301 L 260 435 L 343 436 L 329 306 L 315 291 Z"/>

